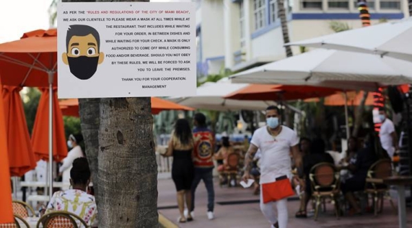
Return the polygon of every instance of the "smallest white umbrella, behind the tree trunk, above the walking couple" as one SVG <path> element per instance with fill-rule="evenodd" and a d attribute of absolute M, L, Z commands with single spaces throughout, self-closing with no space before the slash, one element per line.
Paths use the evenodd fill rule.
<path fill-rule="evenodd" d="M 265 110 L 268 105 L 276 105 L 274 101 L 238 101 L 225 99 L 232 92 L 246 88 L 249 84 L 231 84 L 230 81 L 206 82 L 196 90 L 193 97 L 174 97 L 172 101 L 181 105 L 205 110 Z"/>

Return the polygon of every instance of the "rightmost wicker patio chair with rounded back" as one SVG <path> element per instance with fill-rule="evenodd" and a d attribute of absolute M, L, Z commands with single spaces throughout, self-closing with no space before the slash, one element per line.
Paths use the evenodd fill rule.
<path fill-rule="evenodd" d="M 386 177 L 391 177 L 391 175 L 392 175 L 391 160 L 382 159 L 382 160 L 378 160 L 378 162 L 375 162 L 374 164 L 371 165 L 371 167 L 367 171 L 366 178 L 367 179 L 368 178 L 384 179 Z M 382 184 L 382 183 L 371 183 L 371 182 L 366 181 L 365 192 L 367 194 L 371 194 L 372 196 L 372 199 L 374 201 L 374 215 L 375 216 L 378 214 L 378 203 L 380 203 L 379 212 L 382 212 L 384 198 L 389 199 L 389 202 L 391 203 L 393 210 L 397 212 L 396 207 L 395 205 L 393 205 L 393 201 L 391 197 L 389 196 L 389 186 Z"/>

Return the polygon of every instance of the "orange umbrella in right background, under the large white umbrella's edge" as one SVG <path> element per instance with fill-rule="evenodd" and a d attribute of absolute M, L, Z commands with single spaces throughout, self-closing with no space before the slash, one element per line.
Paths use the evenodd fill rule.
<path fill-rule="evenodd" d="M 347 105 L 355 105 L 358 106 L 362 99 L 363 99 L 363 94 L 365 92 L 347 92 Z M 312 99 L 306 99 L 305 102 L 319 102 L 319 98 L 312 98 Z M 325 97 L 324 105 L 328 106 L 343 106 L 345 105 L 345 95 L 338 93 L 338 94 L 333 94 L 328 97 Z M 365 101 L 365 105 L 374 105 L 374 94 L 369 92 L 367 95 L 367 99 Z"/>

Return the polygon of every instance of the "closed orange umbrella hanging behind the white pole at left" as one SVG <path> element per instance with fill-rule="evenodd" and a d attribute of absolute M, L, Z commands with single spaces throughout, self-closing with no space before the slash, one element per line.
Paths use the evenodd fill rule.
<path fill-rule="evenodd" d="M 60 162 L 67 156 L 67 146 L 65 137 L 65 126 L 63 124 L 63 116 L 58 99 L 56 88 L 52 94 L 53 99 L 53 158 Z M 38 102 L 36 120 L 34 121 L 32 145 L 34 154 L 38 159 L 49 159 L 49 99 L 50 93 L 48 88 L 41 88 L 41 99 Z"/>

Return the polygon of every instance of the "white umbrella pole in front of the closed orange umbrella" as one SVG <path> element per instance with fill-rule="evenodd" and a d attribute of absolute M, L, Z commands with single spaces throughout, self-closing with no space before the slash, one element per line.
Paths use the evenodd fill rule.
<path fill-rule="evenodd" d="M 53 72 L 49 76 L 49 200 L 53 194 Z"/>

